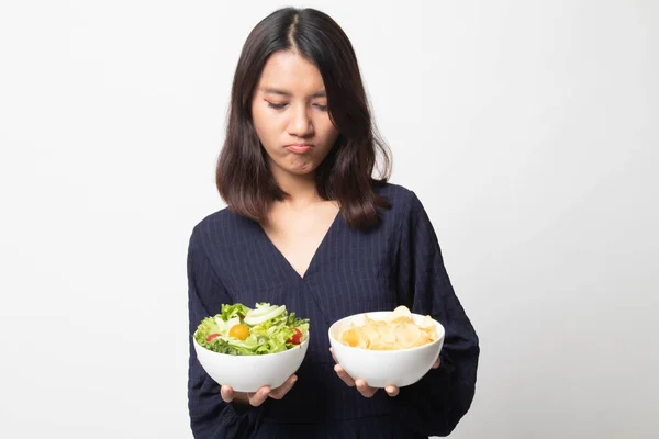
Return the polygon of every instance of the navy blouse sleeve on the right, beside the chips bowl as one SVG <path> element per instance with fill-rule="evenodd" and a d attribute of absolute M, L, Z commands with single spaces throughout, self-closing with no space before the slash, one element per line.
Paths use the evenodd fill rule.
<path fill-rule="evenodd" d="M 400 299 L 413 313 L 429 314 L 446 334 L 439 368 L 400 389 L 393 399 L 413 430 L 448 436 L 473 399 L 479 340 L 450 284 L 433 225 L 421 201 L 412 195 L 398 255 Z"/>

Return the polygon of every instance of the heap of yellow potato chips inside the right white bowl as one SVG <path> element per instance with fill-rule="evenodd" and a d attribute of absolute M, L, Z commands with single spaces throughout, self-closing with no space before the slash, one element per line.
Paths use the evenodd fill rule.
<path fill-rule="evenodd" d="M 435 341 L 437 337 L 437 327 L 431 316 L 425 316 L 416 325 L 410 309 L 399 306 L 386 320 L 375 320 L 365 314 L 364 324 L 350 324 L 338 340 L 356 348 L 396 350 L 424 346 Z"/>

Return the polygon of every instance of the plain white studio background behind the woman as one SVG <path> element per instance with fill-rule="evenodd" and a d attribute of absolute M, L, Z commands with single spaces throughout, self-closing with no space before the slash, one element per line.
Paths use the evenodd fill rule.
<path fill-rule="evenodd" d="M 190 438 L 186 251 L 272 1 L 3 1 L 0 437 Z M 455 438 L 659 430 L 656 1 L 310 1 L 481 337 Z"/>

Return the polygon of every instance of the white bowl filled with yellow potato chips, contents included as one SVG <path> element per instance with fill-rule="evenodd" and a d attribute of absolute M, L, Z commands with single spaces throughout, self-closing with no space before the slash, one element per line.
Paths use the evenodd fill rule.
<path fill-rule="evenodd" d="M 330 327 L 330 345 L 340 367 L 371 387 L 403 387 L 421 380 L 444 345 L 439 322 L 405 306 L 344 317 Z"/>

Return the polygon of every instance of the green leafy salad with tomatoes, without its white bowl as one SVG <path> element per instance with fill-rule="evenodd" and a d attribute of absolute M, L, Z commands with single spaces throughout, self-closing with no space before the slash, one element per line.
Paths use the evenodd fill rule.
<path fill-rule="evenodd" d="M 222 305 L 222 313 L 205 317 L 194 333 L 200 346 L 232 356 L 261 356 L 291 349 L 309 337 L 309 319 L 298 318 L 284 305 L 242 303 Z"/>

